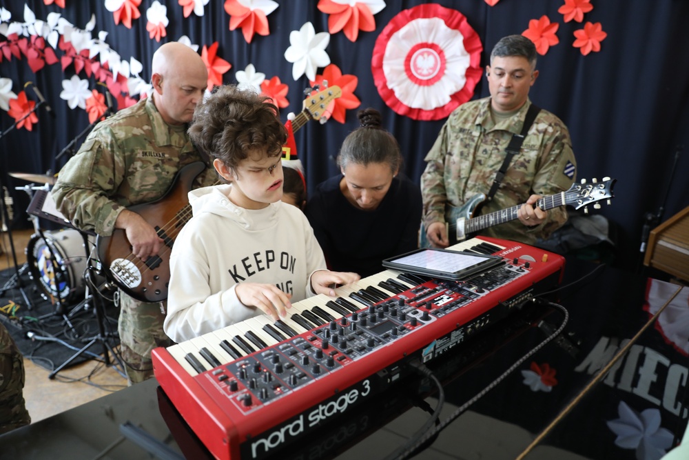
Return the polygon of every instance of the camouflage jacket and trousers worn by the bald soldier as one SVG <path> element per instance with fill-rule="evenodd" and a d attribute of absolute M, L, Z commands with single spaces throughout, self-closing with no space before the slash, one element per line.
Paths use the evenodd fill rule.
<path fill-rule="evenodd" d="M 218 176 L 186 130 L 165 123 L 152 98 L 102 121 L 59 172 L 52 190 L 58 209 L 77 228 L 107 237 L 122 210 L 163 197 L 189 163 L 209 165 L 194 188 L 212 185 Z M 153 376 L 151 350 L 171 343 L 163 332 L 165 303 L 139 302 L 124 292 L 120 299 L 121 352 L 127 377 L 136 383 Z"/>

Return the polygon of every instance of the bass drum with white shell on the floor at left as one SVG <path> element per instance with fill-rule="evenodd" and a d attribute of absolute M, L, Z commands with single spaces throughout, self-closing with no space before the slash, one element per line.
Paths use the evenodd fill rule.
<path fill-rule="evenodd" d="M 48 301 L 58 297 L 63 303 L 83 298 L 86 288 L 86 250 L 77 230 L 57 230 L 34 234 L 26 247 L 26 261 L 31 279 Z M 56 262 L 54 266 L 53 260 Z"/>

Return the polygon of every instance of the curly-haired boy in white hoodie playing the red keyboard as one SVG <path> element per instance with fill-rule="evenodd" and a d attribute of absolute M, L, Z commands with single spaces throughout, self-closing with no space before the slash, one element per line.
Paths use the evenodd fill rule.
<path fill-rule="evenodd" d="M 306 217 L 280 202 L 287 134 L 266 100 L 223 86 L 189 127 L 228 184 L 189 192 L 194 217 L 172 249 L 164 326 L 176 342 L 264 313 L 277 320 L 291 301 L 360 278 L 327 270 Z"/>

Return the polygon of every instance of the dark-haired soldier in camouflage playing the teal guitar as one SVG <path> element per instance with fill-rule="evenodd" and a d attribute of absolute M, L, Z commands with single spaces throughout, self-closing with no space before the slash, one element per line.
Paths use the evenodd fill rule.
<path fill-rule="evenodd" d="M 536 50 L 522 35 L 504 37 L 486 66 L 491 97 L 457 108 L 426 155 L 422 174 L 426 237 L 444 248 L 446 203 L 459 207 L 476 194 L 488 194 L 506 156 L 513 134 L 520 134 L 531 106 L 528 91 L 538 70 Z M 500 188 L 481 208 L 482 214 L 524 203 L 518 220 L 486 228 L 486 236 L 535 243 L 567 220 L 564 207 L 534 208 L 537 199 L 568 190 L 575 179 L 576 160 L 567 127 L 541 110 L 528 130 L 520 153 L 513 157 Z"/>

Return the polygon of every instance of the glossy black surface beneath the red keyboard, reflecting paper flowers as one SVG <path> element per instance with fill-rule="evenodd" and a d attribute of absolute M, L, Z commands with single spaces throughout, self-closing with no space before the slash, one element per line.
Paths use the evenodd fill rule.
<path fill-rule="evenodd" d="M 528 306 L 429 363 L 444 389 L 431 426 L 442 429 L 409 457 L 660 458 L 686 427 L 688 360 L 667 321 L 665 328 L 662 321 L 648 324 L 675 290 L 646 274 L 568 260 L 558 303 L 569 321 L 557 339 L 542 346 L 562 311 Z M 686 292 L 677 297 L 684 307 Z M 630 339 L 630 351 L 617 359 Z M 428 379 L 405 379 L 273 457 L 389 458 L 437 405 Z M 212 456 L 151 379 L 0 436 L 0 459 L 43 458 Z"/>

